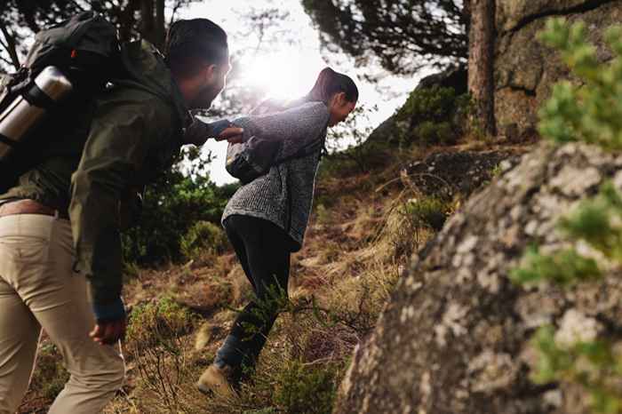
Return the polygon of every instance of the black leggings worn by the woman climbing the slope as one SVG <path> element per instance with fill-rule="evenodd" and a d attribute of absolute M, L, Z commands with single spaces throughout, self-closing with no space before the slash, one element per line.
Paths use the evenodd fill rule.
<path fill-rule="evenodd" d="M 254 366 L 266 344 L 278 315 L 275 295 L 287 295 L 291 238 L 268 220 L 242 215 L 228 217 L 225 231 L 256 296 L 238 314 L 216 357 L 217 364 L 240 370 Z"/>

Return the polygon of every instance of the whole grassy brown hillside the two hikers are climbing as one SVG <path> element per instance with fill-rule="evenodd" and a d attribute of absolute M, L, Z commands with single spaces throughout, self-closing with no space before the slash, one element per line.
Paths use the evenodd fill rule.
<path fill-rule="evenodd" d="M 502 159 L 525 147 L 386 150 L 392 158 L 365 173 L 339 157 L 324 161 L 307 242 L 292 259 L 290 300 L 239 400 L 211 398 L 194 386 L 235 309 L 251 296 L 233 252 L 208 250 L 180 266 L 131 269 L 128 381 L 106 412 L 330 412 L 350 355 L 373 330 L 411 254 L 490 181 Z M 44 341 L 20 412 L 45 412 L 67 375 Z"/>

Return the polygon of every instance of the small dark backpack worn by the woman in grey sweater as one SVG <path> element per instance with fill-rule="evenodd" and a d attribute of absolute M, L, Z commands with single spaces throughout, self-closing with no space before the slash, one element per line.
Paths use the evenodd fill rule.
<path fill-rule="evenodd" d="M 259 107 L 253 109 L 251 115 L 280 112 L 293 104 L 288 105 L 284 102 L 266 100 Z M 264 139 L 257 136 L 251 136 L 242 143 L 229 144 L 225 169 L 233 177 L 239 179 L 242 184 L 248 184 L 253 179 L 266 175 L 270 168 L 276 165 L 287 163 L 292 159 L 304 158 L 318 151 L 322 157 L 326 151 L 323 136 L 309 142 L 305 147 L 301 147 L 295 154 L 279 159 L 281 146 L 282 142 L 279 140 Z"/>

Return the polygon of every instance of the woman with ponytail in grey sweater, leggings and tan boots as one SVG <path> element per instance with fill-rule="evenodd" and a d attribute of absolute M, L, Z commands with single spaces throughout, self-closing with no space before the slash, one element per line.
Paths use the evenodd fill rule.
<path fill-rule="evenodd" d="M 287 294 L 291 252 L 302 247 L 326 129 L 344 121 L 356 100 L 354 81 L 325 68 L 311 92 L 286 110 L 234 121 L 243 127 L 243 139 L 260 134 L 282 140 L 283 162 L 240 187 L 223 213 L 223 227 L 256 298 L 238 314 L 199 389 L 230 396 L 243 371 L 254 367 L 278 313 L 277 297 Z M 322 145 L 310 145 L 318 140 Z M 300 155 L 308 147 L 316 149 Z"/>

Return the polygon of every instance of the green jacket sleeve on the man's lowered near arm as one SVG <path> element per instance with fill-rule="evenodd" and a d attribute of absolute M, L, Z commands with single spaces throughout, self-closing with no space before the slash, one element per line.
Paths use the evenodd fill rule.
<path fill-rule="evenodd" d="M 149 148 L 171 128 L 154 100 L 100 103 L 82 159 L 71 179 L 71 219 L 77 269 L 91 281 L 92 300 L 106 304 L 122 290 L 120 202 L 136 183 Z"/>

